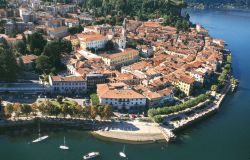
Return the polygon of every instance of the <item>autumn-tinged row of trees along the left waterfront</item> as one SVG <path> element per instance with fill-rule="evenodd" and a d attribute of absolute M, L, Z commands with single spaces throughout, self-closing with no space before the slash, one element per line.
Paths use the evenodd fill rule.
<path fill-rule="evenodd" d="M 59 105 L 58 105 L 59 104 Z M 11 117 L 13 113 L 16 116 L 25 115 L 28 117 L 33 114 L 36 115 L 38 112 L 41 112 L 44 116 L 55 116 L 56 118 L 61 115 L 64 118 L 66 116 L 77 117 L 77 118 L 86 118 L 86 119 L 100 119 L 108 120 L 112 117 L 113 111 L 111 106 L 91 106 L 91 107 L 82 107 L 76 102 L 74 103 L 53 103 L 52 101 L 45 101 L 39 105 L 33 103 L 32 105 L 28 104 L 7 104 L 4 107 L 5 116 Z"/>

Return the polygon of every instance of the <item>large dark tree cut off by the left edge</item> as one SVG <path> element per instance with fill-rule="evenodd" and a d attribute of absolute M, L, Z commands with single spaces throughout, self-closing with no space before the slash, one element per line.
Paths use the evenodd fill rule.
<path fill-rule="evenodd" d="M 0 48 L 0 81 L 13 82 L 18 78 L 19 67 L 10 49 Z"/>

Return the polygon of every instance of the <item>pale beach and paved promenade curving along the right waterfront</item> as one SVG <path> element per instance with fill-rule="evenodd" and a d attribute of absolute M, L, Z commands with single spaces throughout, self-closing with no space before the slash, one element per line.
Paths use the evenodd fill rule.
<path fill-rule="evenodd" d="M 219 109 L 221 103 L 223 102 L 225 96 L 230 91 L 230 89 L 231 85 L 225 87 L 223 93 L 217 94 L 216 100 L 214 100 L 206 107 L 202 106 L 208 103 L 208 101 L 205 101 L 195 107 L 186 109 L 184 111 L 164 116 L 164 124 L 168 125 L 129 121 L 126 122 L 126 124 L 130 124 L 131 126 L 133 126 L 133 129 L 126 128 L 125 123 L 109 124 L 103 126 L 103 128 L 100 128 L 97 131 L 94 131 L 93 134 L 105 140 L 123 141 L 127 143 L 152 143 L 155 141 L 169 142 L 172 138 L 175 137 L 175 131 L 185 128 L 193 124 L 194 122 L 201 120 L 202 118 L 205 118 L 208 115 L 216 112 Z M 185 114 L 190 111 L 193 111 L 193 114 Z M 171 121 L 170 117 L 173 118 L 174 116 L 179 117 L 180 119 L 176 121 Z"/>

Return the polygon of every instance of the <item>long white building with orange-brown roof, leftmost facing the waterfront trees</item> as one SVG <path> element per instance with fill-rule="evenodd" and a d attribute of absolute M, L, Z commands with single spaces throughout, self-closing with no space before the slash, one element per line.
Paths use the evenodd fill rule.
<path fill-rule="evenodd" d="M 87 81 L 82 76 L 49 76 L 52 93 L 80 94 L 87 92 Z"/>

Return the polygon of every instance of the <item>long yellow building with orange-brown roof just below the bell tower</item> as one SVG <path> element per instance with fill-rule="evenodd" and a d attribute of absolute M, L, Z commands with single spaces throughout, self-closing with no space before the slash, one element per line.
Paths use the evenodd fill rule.
<path fill-rule="evenodd" d="M 132 48 L 127 48 L 113 54 L 105 53 L 102 54 L 101 57 L 104 63 L 112 68 L 119 68 L 129 65 L 137 62 L 140 59 L 139 52 Z"/>

